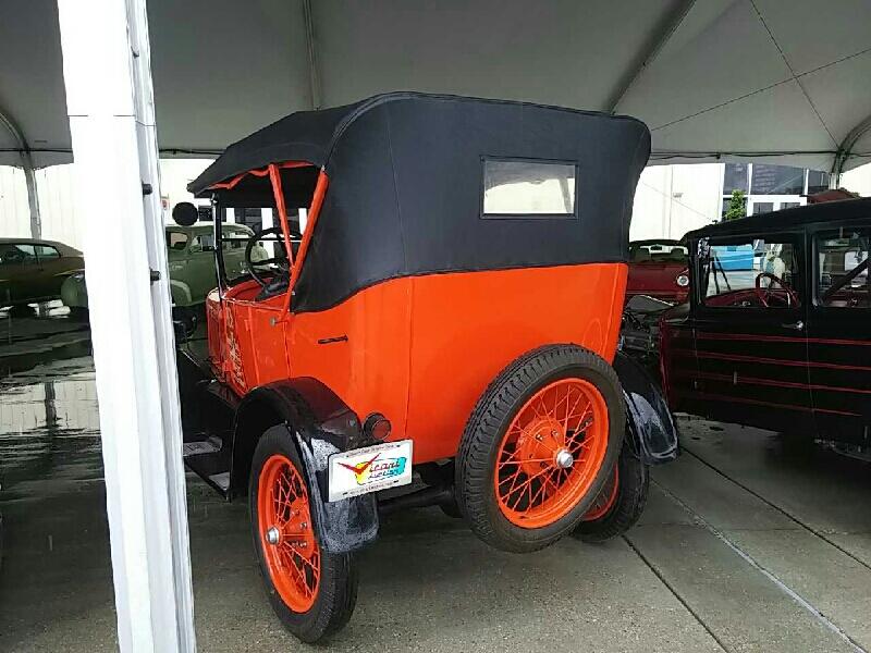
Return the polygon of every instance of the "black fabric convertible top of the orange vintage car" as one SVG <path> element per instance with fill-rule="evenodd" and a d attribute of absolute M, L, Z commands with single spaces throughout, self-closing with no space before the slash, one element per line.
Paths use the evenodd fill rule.
<path fill-rule="evenodd" d="M 231 145 L 188 189 L 207 196 L 249 170 L 304 161 L 315 168 L 282 172 L 285 202 L 304 207 L 322 168 L 329 188 L 294 299 L 321 310 L 396 276 L 625 261 L 649 153 L 631 118 L 394 93 L 293 113 Z M 483 219 L 484 164 L 506 160 L 574 167 L 574 212 Z M 245 180 L 218 202 L 272 205 L 266 177 Z"/>

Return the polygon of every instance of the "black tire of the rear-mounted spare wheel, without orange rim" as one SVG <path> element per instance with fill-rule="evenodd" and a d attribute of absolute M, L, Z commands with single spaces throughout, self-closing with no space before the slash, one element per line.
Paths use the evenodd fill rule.
<path fill-rule="evenodd" d="M 500 444 L 516 412 L 535 393 L 548 383 L 572 377 L 592 383 L 605 402 L 609 435 L 604 459 L 587 494 L 566 515 L 541 528 L 523 528 L 502 514 L 493 492 Z M 496 549 L 526 553 L 572 532 L 616 463 L 625 410 L 616 372 L 601 357 L 577 345 L 540 347 L 506 367 L 478 399 L 457 453 L 457 503 L 475 534 Z"/>

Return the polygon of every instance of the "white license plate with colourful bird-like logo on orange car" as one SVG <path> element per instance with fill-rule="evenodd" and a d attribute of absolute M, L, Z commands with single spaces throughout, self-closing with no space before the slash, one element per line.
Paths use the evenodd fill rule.
<path fill-rule="evenodd" d="M 329 501 L 412 482 L 412 441 L 385 442 L 330 456 Z"/>

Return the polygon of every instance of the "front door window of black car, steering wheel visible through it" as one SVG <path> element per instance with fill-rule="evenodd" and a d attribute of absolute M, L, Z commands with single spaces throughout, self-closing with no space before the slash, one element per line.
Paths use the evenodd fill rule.
<path fill-rule="evenodd" d="M 800 304 L 798 266 L 792 243 L 763 238 L 711 241 L 710 250 L 700 263 L 706 306 L 795 308 Z"/>

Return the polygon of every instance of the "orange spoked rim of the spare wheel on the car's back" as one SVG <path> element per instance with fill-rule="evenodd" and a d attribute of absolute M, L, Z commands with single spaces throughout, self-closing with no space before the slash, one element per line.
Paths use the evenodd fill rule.
<path fill-rule="evenodd" d="M 592 383 L 568 378 L 539 390 L 496 452 L 493 484 L 502 515 L 522 528 L 565 517 L 590 491 L 608 436 L 608 405 Z"/>

